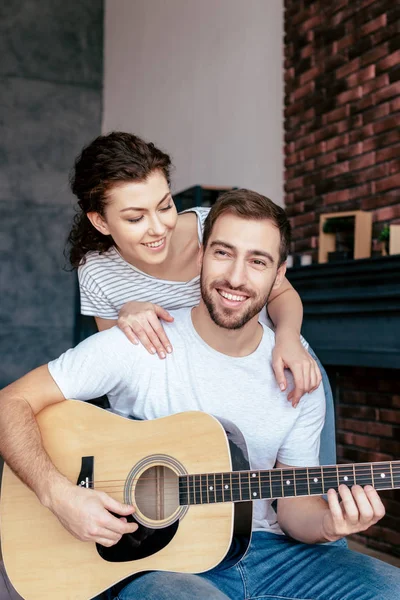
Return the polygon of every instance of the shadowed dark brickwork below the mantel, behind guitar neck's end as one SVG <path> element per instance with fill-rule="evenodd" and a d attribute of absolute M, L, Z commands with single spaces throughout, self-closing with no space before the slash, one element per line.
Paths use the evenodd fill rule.
<path fill-rule="evenodd" d="M 400 457 L 399 372 L 336 367 L 336 429 L 339 462 L 379 462 Z M 353 538 L 400 556 L 400 490 L 381 492 L 386 516 Z"/>

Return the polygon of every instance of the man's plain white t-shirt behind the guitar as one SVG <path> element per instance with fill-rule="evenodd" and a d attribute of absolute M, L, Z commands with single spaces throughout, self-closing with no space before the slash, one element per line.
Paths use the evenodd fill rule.
<path fill-rule="evenodd" d="M 272 469 L 277 460 L 298 467 L 318 465 L 323 387 L 292 407 L 272 369 L 274 333 L 260 324 L 264 331 L 258 348 L 248 356 L 231 357 L 202 340 L 190 308 L 171 314 L 174 321 L 164 327 L 174 350 L 164 360 L 113 327 L 50 362 L 50 374 L 64 397 L 90 400 L 107 394 L 113 412 L 136 419 L 201 410 L 239 427 L 252 469 Z M 253 515 L 254 530 L 282 533 L 270 500 L 256 501 Z"/>

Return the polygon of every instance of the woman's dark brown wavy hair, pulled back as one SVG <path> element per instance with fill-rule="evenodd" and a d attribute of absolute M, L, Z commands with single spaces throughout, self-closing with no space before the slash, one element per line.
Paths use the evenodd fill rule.
<path fill-rule="evenodd" d="M 75 161 L 70 183 L 79 209 L 68 236 L 69 259 L 74 268 L 84 264 L 87 252 L 106 252 L 114 241 L 103 235 L 87 217 L 98 212 L 104 217 L 107 196 L 118 184 L 146 181 L 161 171 L 170 184 L 171 159 L 154 144 L 131 133 L 113 131 L 100 135 L 86 146 Z"/>

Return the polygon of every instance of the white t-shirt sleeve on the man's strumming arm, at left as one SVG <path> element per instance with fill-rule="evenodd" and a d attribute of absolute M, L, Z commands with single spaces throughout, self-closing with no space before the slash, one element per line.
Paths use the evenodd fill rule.
<path fill-rule="evenodd" d="M 110 393 L 122 395 L 137 356 L 138 346 L 112 327 L 67 350 L 48 369 L 64 398 L 91 400 Z"/>

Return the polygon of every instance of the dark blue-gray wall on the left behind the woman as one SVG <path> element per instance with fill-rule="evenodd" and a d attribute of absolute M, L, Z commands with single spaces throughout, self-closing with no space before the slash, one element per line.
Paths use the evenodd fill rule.
<path fill-rule="evenodd" d="M 0 387 L 73 343 L 68 174 L 102 80 L 103 0 L 0 3 Z"/>

